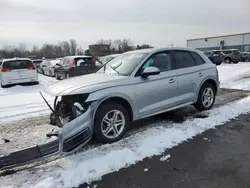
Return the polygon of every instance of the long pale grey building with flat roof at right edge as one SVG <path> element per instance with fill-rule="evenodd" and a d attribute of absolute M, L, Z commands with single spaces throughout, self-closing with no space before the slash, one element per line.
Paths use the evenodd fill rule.
<path fill-rule="evenodd" d="M 250 51 L 250 32 L 215 37 L 188 39 L 187 47 L 199 50 L 239 49 Z"/>

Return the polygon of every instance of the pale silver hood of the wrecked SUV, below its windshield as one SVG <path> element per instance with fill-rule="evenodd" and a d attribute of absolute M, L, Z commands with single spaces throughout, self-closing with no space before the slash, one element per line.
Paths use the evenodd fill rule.
<path fill-rule="evenodd" d="M 53 96 L 89 93 L 106 87 L 116 86 L 118 79 L 125 78 L 127 77 L 101 73 L 87 74 L 58 81 L 47 87 L 44 92 Z"/>

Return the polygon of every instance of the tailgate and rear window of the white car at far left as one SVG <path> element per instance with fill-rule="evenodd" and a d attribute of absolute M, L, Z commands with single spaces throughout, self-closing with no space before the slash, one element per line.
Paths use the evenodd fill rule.
<path fill-rule="evenodd" d="M 36 68 L 30 60 L 6 61 L 2 65 L 2 74 L 13 80 L 33 78 L 37 75 Z"/>

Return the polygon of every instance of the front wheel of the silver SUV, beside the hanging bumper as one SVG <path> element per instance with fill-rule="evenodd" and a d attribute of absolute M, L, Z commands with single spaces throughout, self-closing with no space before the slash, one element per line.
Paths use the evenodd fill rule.
<path fill-rule="evenodd" d="M 116 102 L 102 104 L 95 115 L 94 135 L 101 143 L 120 140 L 129 127 L 127 109 Z"/>

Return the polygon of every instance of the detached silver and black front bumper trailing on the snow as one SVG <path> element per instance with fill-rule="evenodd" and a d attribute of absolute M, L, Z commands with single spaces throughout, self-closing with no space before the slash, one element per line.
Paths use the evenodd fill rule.
<path fill-rule="evenodd" d="M 52 156 L 64 156 L 82 148 L 92 137 L 94 105 L 95 103 L 92 103 L 82 115 L 63 125 L 57 132 L 57 139 L 0 156 L 0 170 L 19 167 Z"/>

